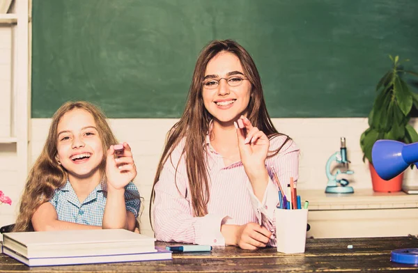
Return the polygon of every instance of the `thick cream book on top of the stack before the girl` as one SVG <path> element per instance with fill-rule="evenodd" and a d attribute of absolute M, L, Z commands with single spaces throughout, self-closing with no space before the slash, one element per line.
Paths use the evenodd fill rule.
<path fill-rule="evenodd" d="M 3 233 L 3 247 L 26 258 L 102 256 L 156 251 L 155 238 L 125 229 Z"/>

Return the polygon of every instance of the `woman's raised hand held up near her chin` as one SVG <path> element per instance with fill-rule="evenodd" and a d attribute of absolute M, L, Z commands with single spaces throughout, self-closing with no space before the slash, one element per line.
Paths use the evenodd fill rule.
<path fill-rule="evenodd" d="M 251 182 L 259 178 L 265 179 L 265 158 L 267 157 L 270 141 L 263 131 L 251 125 L 245 116 L 236 121 L 238 148 L 245 173 Z"/>

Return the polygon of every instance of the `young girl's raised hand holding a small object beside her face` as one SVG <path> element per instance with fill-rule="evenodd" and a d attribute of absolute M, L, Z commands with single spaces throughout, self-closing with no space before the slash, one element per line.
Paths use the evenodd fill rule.
<path fill-rule="evenodd" d="M 130 146 L 124 142 L 123 150 L 115 150 L 115 145 L 107 150 L 106 178 L 107 187 L 122 189 L 137 176 L 137 167 Z"/>

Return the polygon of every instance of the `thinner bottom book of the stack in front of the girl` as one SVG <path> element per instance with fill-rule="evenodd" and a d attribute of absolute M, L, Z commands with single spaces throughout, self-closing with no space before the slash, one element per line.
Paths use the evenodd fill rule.
<path fill-rule="evenodd" d="M 44 257 L 44 258 L 26 258 L 21 254 L 3 248 L 3 253 L 15 258 L 16 260 L 28 266 L 52 266 L 52 265 L 83 265 L 92 263 L 122 263 L 138 262 L 144 260 L 171 260 L 171 251 L 157 248 L 151 253 L 130 253 L 118 255 L 97 255 L 97 256 L 71 256 L 71 257 Z"/>

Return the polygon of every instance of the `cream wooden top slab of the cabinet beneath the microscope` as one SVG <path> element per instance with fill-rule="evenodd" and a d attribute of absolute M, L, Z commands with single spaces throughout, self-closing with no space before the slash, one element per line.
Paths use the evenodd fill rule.
<path fill-rule="evenodd" d="M 353 194 L 325 194 L 325 189 L 301 189 L 302 203 L 309 201 L 309 210 L 374 210 L 418 208 L 418 194 L 405 192 L 373 192 L 355 189 Z"/>

